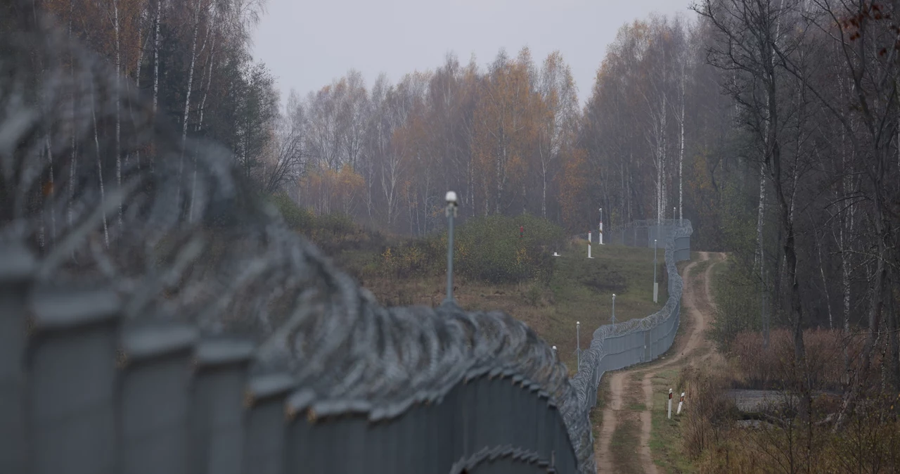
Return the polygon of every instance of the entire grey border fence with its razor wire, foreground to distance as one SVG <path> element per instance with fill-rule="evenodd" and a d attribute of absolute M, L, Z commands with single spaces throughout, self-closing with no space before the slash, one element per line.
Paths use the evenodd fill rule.
<path fill-rule="evenodd" d="M 569 379 L 508 315 L 383 308 L 224 149 L 2 5 L 0 473 L 596 471 L 600 377 L 671 345 L 689 223 L 653 230 L 666 306 L 598 328 Z"/>

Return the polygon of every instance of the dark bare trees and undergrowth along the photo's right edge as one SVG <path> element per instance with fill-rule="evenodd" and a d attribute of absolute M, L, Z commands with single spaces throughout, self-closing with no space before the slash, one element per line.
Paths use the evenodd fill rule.
<path fill-rule="evenodd" d="M 717 335 L 747 352 L 746 332 L 759 331 L 752 351 L 797 397 L 792 411 L 767 413 L 763 429 L 751 430 L 754 451 L 738 435 L 708 454 L 765 452 L 756 464 L 764 471 L 895 471 L 900 4 L 701 0 L 694 10 L 698 53 L 721 93 L 715 102 L 725 99 L 716 108 L 725 126 L 711 123 L 721 133 L 699 148 L 712 154 L 694 162 L 706 162 L 698 184 L 714 197 L 737 275 Z M 775 327 L 789 338 L 773 348 Z M 812 330 L 821 327 L 836 337 Z M 831 377 L 838 403 L 815 395 L 831 388 L 826 371 L 841 374 Z"/>

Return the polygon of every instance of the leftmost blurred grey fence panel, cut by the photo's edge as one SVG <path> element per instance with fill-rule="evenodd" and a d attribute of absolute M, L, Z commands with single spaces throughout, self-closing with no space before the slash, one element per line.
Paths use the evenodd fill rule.
<path fill-rule="evenodd" d="M 25 305 L 35 262 L 14 244 L 0 245 L 0 262 L 0 472 L 26 472 Z"/>

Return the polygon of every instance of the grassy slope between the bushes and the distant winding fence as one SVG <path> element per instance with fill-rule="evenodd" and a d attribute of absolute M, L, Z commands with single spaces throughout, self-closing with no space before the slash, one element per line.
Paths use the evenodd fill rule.
<path fill-rule="evenodd" d="M 502 310 L 524 321 L 549 344 L 572 373 L 575 355 L 575 322 L 581 321 L 581 347 L 587 348 L 594 329 L 608 324 L 612 295 L 616 293 L 616 317 L 625 321 L 645 317 L 662 308 L 668 298 L 662 252 L 658 255 L 659 304 L 653 303 L 653 249 L 626 246 L 593 246 L 587 258 L 587 242 L 574 241 L 554 257 L 549 282 L 487 284 L 457 277 L 455 299 L 464 309 Z M 365 262 L 362 254 L 338 255 L 342 264 Z M 422 304 L 436 306 L 444 300 L 443 274 L 409 279 L 370 276 L 362 282 L 385 305 Z"/>

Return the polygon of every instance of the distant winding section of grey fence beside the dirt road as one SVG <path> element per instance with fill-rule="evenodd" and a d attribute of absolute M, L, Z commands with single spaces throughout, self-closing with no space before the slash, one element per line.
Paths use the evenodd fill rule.
<path fill-rule="evenodd" d="M 648 317 L 600 326 L 594 331 L 590 348 L 581 353 L 578 373 L 572 378 L 578 403 L 563 414 L 566 425 L 575 432 L 581 431 L 585 425 L 590 430 L 590 409 L 597 404 L 597 389 L 604 372 L 653 361 L 669 350 L 678 332 L 682 282 L 676 263 L 690 258 L 693 228 L 688 219 L 664 221 L 659 226 L 656 220 L 635 221 L 625 227 L 632 231 L 638 228 L 647 229 L 651 247 L 651 237 L 662 239 L 665 243 L 669 298 L 662 309 Z M 610 234 L 615 236 L 617 231 L 621 232 L 622 228 L 614 229 Z M 643 241 L 632 242 L 632 245 L 635 244 L 644 246 Z M 584 460 L 592 455 L 593 441 L 590 445 L 579 441 L 574 440 L 575 452 L 580 460 Z"/>

